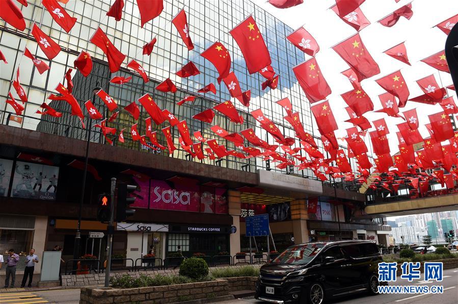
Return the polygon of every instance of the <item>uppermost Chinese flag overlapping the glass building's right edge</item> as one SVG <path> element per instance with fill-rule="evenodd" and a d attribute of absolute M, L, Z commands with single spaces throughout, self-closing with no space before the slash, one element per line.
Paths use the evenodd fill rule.
<path fill-rule="evenodd" d="M 310 103 L 324 100 L 331 94 L 331 88 L 318 67 L 315 57 L 292 68 Z"/>

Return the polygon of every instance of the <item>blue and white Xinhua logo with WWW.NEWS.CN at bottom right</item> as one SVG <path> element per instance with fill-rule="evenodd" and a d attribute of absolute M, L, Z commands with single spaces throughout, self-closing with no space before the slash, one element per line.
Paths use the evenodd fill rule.
<path fill-rule="evenodd" d="M 421 279 L 420 262 L 403 262 L 401 265 L 401 276 L 402 280 L 408 280 L 412 282 L 414 280 Z M 442 282 L 442 262 L 425 262 L 423 281 L 436 281 Z M 397 263 L 379 263 L 379 282 L 396 282 L 397 274 Z M 397 286 L 378 286 L 379 293 L 443 293 L 443 286 L 408 286 L 408 285 L 397 285 Z"/>

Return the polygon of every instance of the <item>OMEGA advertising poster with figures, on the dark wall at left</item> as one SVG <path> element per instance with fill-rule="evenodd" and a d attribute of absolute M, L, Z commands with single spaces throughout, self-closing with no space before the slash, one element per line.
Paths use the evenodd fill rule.
<path fill-rule="evenodd" d="M 59 167 L 16 162 L 11 197 L 56 200 Z"/>

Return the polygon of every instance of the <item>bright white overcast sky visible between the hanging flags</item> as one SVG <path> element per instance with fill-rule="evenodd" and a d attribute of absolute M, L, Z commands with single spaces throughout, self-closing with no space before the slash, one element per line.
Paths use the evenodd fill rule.
<path fill-rule="evenodd" d="M 335 4 L 334 0 L 305 0 L 303 4 L 288 9 L 277 9 L 266 3 L 265 0 L 252 1 L 293 29 L 304 25 L 307 31 L 316 39 L 320 46 L 320 51 L 315 57 L 332 89 L 332 94 L 328 97 L 328 100 L 339 126 L 336 136 L 345 136 L 345 129 L 351 128 L 353 125 L 343 122 L 348 119 L 348 115 L 344 110 L 346 104 L 340 97 L 340 94 L 353 89 L 353 87 L 346 77 L 340 74 L 340 72 L 348 69 L 348 65 L 331 47 L 356 34 L 356 30 L 343 22 L 329 9 Z M 401 0 L 399 3 L 396 3 L 395 0 L 366 0 L 360 7 L 366 18 L 371 22 L 370 25 L 360 31 L 360 36 L 367 50 L 379 64 L 381 71 L 379 75 L 363 80 L 361 83 L 374 104 L 374 110 L 382 108 L 378 95 L 385 93 L 385 90 L 375 83 L 374 80 L 396 70 L 400 69 L 406 79 L 410 98 L 423 94 L 415 80 L 430 74 L 435 75 L 439 85 L 441 85 L 441 81 L 443 86 L 452 84 L 450 74 L 439 72 L 420 62 L 420 60 L 444 50 L 447 36 L 440 29 L 437 27 L 433 28 L 433 26 L 456 15 L 458 13 L 458 1 L 414 0 L 412 2 L 414 14 L 410 20 L 401 17 L 392 27 L 385 27 L 377 22 L 409 2 L 408 0 Z M 383 53 L 383 51 L 403 41 L 406 42 L 407 55 L 412 66 L 408 66 Z M 308 55 L 306 57 L 309 58 Z M 456 103 L 456 93 L 448 90 L 448 94 L 455 96 L 454 100 Z M 442 108 L 440 105 L 424 105 L 409 101 L 406 107 L 399 108 L 399 111 L 403 112 L 412 108 L 417 108 L 420 123 L 419 131 L 425 138 L 428 136 L 428 132 L 424 127 L 425 124 L 429 123 L 427 115 L 440 112 Z M 398 141 L 396 137 L 396 131 L 398 130 L 395 125 L 402 123 L 404 120 L 402 118 L 389 117 L 385 113 L 368 112 L 364 116 L 369 121 L 385 118 L 390 129 L 388 139 L 391 154 L 396 153 L 399 149 L 397 147 Z M 317 130 L 316 134 L 318 134 Z M 369 141 L 368 138 L 367 135 L 366 143 Z M 344 144 L 342 141 L 339 141 L 339 143 Z"/>

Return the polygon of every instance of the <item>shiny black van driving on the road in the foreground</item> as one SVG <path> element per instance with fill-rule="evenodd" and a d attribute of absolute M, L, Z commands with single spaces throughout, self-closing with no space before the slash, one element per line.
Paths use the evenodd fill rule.
<path fill-rule="evenodd" d="M 273 303 L 322 304 L 327 298 L 377 294 L 382 255 L 372 241 L 343 240 L 293 245 L 263 265 L 255 298 Z"/>

